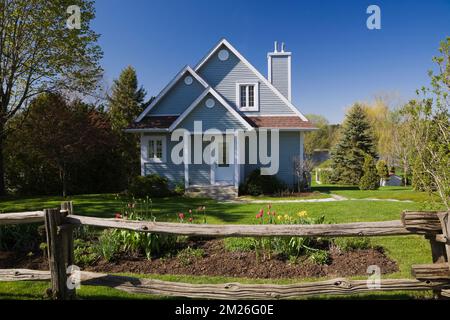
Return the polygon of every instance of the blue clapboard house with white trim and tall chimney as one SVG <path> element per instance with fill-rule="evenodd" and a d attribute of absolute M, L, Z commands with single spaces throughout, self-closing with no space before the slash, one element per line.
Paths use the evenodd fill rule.
<path fill-rule="evenodd" d="M 294 186 L 304 133 L 314 128 L 291 102 L 291 53 L 275 43 L 267 59 L 266 78 L 222 39 L 195 68 L 184 67 L 127 129 L 141 137 L 141 174 L 186 189 L 237 190 L 250 172 L 272 165 L 265 174 Z"/>

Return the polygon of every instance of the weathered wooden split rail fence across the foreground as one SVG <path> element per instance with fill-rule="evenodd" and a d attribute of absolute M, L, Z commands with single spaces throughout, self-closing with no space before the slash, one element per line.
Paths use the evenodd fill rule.
<path fill-rule="evenodd" d="M 130 293 L 211 299 L 287 299 L 317 294 L 397 290 L 433 290 L 437 297 L 450 297 L 449 212 L 405 211 L 401 220 L 318 225 L 199 225 L 104 219 L 75 215 L 71 202 L 62 203 L 61 209 L 0 214 L 0 226 L 37 222 L 45 223 L 50 271 L 0 269 L 0 281 L 49 280 L 49 291 L 53 299 L 75 298 L 75 290 L 67 285 L 72 279 L 67 268 L 73 264 L 73 229 L 82 225 L 214 237 L 357 237 L 418 234 L 424 235 L 430 241 L 433 260 L 433 264 L 412 266 L 414 279 L 382 279 L 377 288 L 369 286 L 366 280 L 344 278 L 287 285 L 191 284 L 81 271 L 78 274 L 81 284 L 86 285 L 108 286 Z"/>

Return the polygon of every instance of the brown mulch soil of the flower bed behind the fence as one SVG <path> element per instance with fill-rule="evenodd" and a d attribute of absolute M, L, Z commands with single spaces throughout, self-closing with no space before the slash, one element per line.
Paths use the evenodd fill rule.
<path fill-rule="evenodd" d="M 204 240 L 190 243 L 192 247 L 204 250 L 204 256 L 192 259 L 189 265 L 176 256 L 147 260 L 144 257 L 120 256 L 113 262 L 101 260 L 83 269 L 107 273 L 156 273 L 209 275 L 246 278 L 303 278 L 343 277 L 367 275 L 367 267 L 377 265 L 383 274 L 398 271 L 397 264 L 380 249 L 330 252 L 328 265 L 318 265 L 304 258 L 297 264 L 290 264 L 280 257 L 257 262 L 254 252 L 229 252 L 222 240 Z M 39 254 L 34 256 L 0 252 L 0 268 L 48 269 L 46 261 Z"/>

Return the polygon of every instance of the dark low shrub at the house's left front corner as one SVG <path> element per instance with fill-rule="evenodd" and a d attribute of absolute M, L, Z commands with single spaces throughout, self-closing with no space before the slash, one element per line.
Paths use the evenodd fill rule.
<path fill-rule="evenodd" d="M 128 193 L 135 198 L 162 198 L 171 195 L 167 178 L 157 174 L 135 177 L 128 187 Z"/>

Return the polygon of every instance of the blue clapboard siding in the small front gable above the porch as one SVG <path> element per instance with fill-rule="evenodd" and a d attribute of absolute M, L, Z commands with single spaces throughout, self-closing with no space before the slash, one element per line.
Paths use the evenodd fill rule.
<path fill-rule="evenodd" d="M 208 108 L 205 105 L 206 100 L 214 99 L 215 106 Z M 243 125 L 211 94 L 208 94 L 201 100 L 194 110 L 180 122 L 178 128 L 184 128 L 191 132 L 194 131 L 194 121 L 202 121 L 203 130 L 218 129 L 225 131 L 227 129 L 243 129 Z"/>

